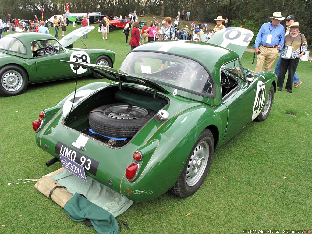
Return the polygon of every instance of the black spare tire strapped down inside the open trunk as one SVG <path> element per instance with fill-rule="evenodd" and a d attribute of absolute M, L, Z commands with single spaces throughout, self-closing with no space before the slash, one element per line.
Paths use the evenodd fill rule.
<path fill-rule="evenodd" d="M 106 110 L 108 108 L 114 109 L 114 108 L 122 107 L 124 105 L 128 106 L 129 103 L 107 104 L 107 105 L 103 105 L 98 108 L 95 108 L 95 110 Z M 135 106 L 132 106 L 132 109 L 134 108 Z M 127 108 L 125 108 L 125 110 L 126 109 Z M 155 114 L 156 114 L 156 111 L 154 110 L 146 110 L 145 116 L 151 118 Z M 97 133 L 100 133 L 106 136 L 129 138 L 129 137 L 133 137 L 148 121 L 145 118 L 115 119 L 116 114 L 115 116 L 112 116 L 112 117 L 109 117 L 108 115 L 110 115 L 110 113 L 103 113 L 103 112 L 98 112 L 98 111 L 90 113 L 89 114 L 90 128 L 96 131 Z M 121 118 L 121 116 L 119 116 L 119 118 Z M 124 118 L 128 118 L 128 116 L 125 116 Z M 130 116 L 130 118 L 134 118 L 134 117 Z"/>

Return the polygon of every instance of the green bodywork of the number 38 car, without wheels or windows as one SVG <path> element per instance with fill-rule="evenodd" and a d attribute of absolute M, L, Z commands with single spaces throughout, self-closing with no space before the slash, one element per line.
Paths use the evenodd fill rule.
<path fill-rule="evenodd" d="M 58 53 L 47 54 L 33 57 L 32 42 L 33 41 L 50 41 L 56 40 L 52 35 L 45 33 L 14 33 L 2 38 L 14 38 L 22 43 L 26 48 L 26 52 L 17 53 L 14 51 L 4 50 L 0 48 L 0 69 L 3 66 L 14 65 L 22 67 L 27 74 L 27 79 L 30 83 L 40 83 L 52 80 L 61 80 L 76 76 L 69 64 L 61 62 L 61 60 L 69 61 L 73 53 L 80 52 L 87 54 L 90 58 L 90 63 L 95 63 L 99 56 L 105 55 L 111 64 L 115 61 L 115 52 L 103 49 L 78 49 L 62 47 Z M 57 68 L 57 69 L 56 69 Z M 91 70 L 86 70 L 77 76 L 87 76 L 91 74 Z"/>

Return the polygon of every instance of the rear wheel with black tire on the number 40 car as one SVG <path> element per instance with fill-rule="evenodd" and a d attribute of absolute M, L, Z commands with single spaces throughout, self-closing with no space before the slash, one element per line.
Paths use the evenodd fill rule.
<path fill-rule="evenodd" d="M 197 158 L 200 157 L 202 151 L 206 151 L 203 154 L 205 154 L 207 161 L 204 161 L 205 159 L 200 160 L 199 158 Z M 170 192 L 177 195 L 178 197 L 189 197 L 193 193 L 195 193 L 200 188 L 206 178 L 206 175 L 210 168 L 213 151 L 213 135 L 209 129 L 205 129 L 196 139 L 193 149 L 191 150 L 191 153 L 189 154 L 188 159 L 181 172 L 181 175 L 178 178 L 178 181 L 173 185 L 173 187 L 170 188 Z M 194 164 L 195 162 L 196 164 Z M 201 165 L 199 166 L 199 168 L 197 168 L 198 164 Z M 198 170 L 198 175 L 197 173 L 195 173 L 194 175 L 193 172 L 195 171 L 195 169 Z M 192 177 L 190 178 L 190 176 Z M 193 184 L 190 184 L 190 182 L 192 182 Z"/>

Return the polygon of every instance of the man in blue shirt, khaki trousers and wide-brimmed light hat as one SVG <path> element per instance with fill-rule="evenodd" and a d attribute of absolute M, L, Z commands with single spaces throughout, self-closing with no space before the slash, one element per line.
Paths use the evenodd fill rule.
<path fill-rule="evenodd" d="M 280 24 L 280 21 L 284 20 L 285 17 L 282 17 L 280 12 L 274 12 L 270 19 L 272 19 L 271 22 L 262 24 L 256 37 L 254 45 L 255 53 L 258 54 L 255 69 L 256 73 L 262 71 L 264 62 L 266 62 L 264 71 L 271 71 L 278 52 L 284 47 L 285 29 L 284 26 Z"/>

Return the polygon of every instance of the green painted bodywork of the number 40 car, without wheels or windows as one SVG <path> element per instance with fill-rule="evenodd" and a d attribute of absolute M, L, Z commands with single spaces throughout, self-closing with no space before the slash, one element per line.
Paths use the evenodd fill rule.
<path fill-rule="evenodd" d="M 224 64 L 239 61 L 240 56 L 234 51 L 209 43 L 161 41 L 139 46 L 129 54 L 136 52 L 161 52 L 191 58 L 204 66 L 215 82 L 213 97 L 196 95 L 179 89 L 176 94 L 173 94 L 174 87 L 153 84 L 148 78 L 131 76 L 131 74 L 127 78 L 122 71 L 89 65 L 90 68 L 105 71 L 108 78 L 118 82 L 111 84 L 96 82 L 78 89 L 77 93 L 85 96 L 74 105 L 72 113 L 79 106 L 82 108 L 96 102 L 97 95 L 105 93 L 105 90 L 118 90 L 124 87 L 139 90 L 142 84 L 148 87 L 145 90 L 152 94 L 157 90 L 158 95 L 168 101 L 163 109 L 170 114 L 169 118 L 163 122 L 151 118 L 126 145 L 114 148 L 85 135 L 89 139 L 80 152 L 99 162 L 96 173 L 86 171 L 87 176 L 95 178 L 130 200 L 144 202 L 167 192 L 177 182 L 196 139 L 204 129 L 212 132 L 214 149 L 217 149 L 255 119 L 254 115 L 262 111 L 266 92 L 270 90 L 271 85 L 276 89 L 277 78 L 274 72 L 255 74 L 241 67 L 239 75 L 241 77 L 236 80 L 236 87 L 222 97 L 221 69 Z M 226 73 L 224 69 L 222 72 Z M 247 82 L 246 76 L 250 74 L 254 80 Z M 259 88 L 261 91 L 257 92 Z M 55 107 L 44 110 L 46 117 L 40 129 L 36 131 L 37 145 L 58 159 L 60 155 L 56 153 L 57 144 L 61 143 L 67 147 L 67 153 L 70 154 L 70 150 L 79 151 L 73 148 L 72 143 L 80 135 L 84 135 L 74 129 L 74 124 L 71 126 L 66 124 L 69 112 L 66 103 L 72 99 L 73 94 L 65 97 Z M 255 108 L 258 103 L 257 98 L 262 103 L 261 110 Z M 84 125 L 85 118 L 77 115 L 75 126 Z M 135 162 L 133 158 L 135 151 L 141 152 L 144 156 L 138 162 L 139 171 L 136 177 L 130 182 L 125 177 L 125 168 Z"/>

